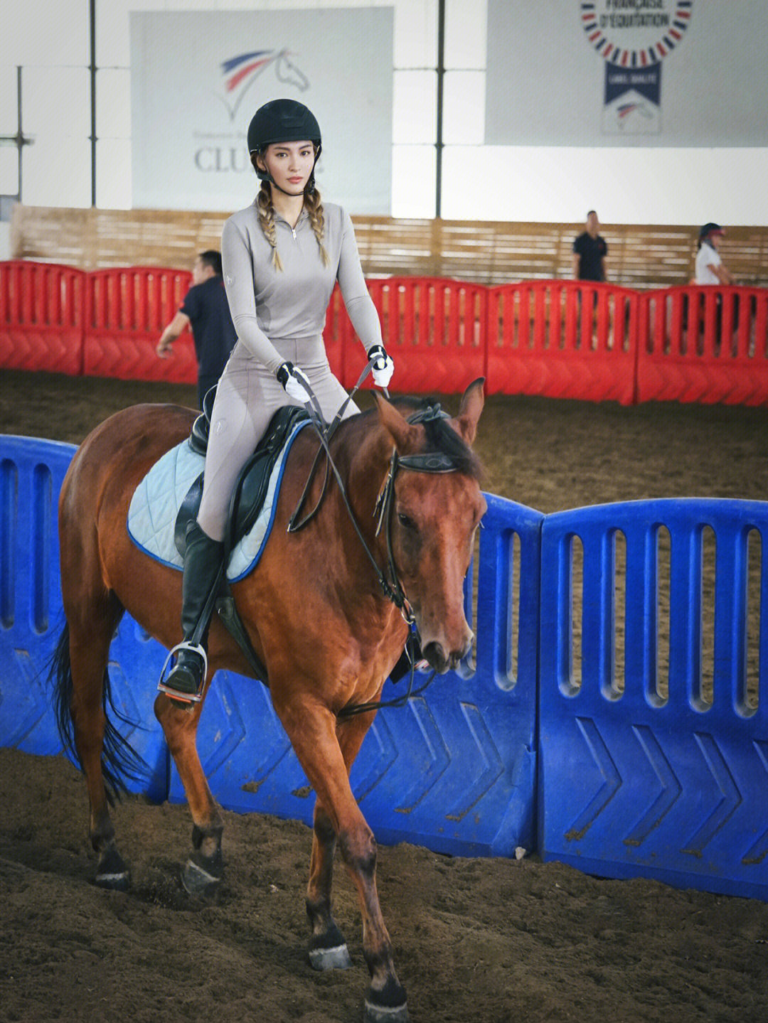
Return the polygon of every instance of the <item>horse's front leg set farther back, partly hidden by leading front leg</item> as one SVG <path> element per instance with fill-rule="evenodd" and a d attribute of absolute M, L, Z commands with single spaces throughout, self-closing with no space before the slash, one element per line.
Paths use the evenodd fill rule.
<path fill-rule="evenodd" d="M 371 719 L 370 714 L 357 715 L 336 727 L 348 775 Z M 315 970 L 346 970 L 352 965 L 352 961 L 344 935 L 331 911 L 336 833 L 330 814 L 319 799 L 315 802 L 313 826 L 310 878 L 307 885 L 307 917 L 312 929 L 310 964 Z"/>

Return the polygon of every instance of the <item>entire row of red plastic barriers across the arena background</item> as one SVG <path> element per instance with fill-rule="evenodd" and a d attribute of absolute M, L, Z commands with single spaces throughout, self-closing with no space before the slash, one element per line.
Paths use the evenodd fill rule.
<path fill-rule="evenodd" d="M 191 335 L 155 347 L 190 284 L 185 270 L 84 273 L 0 263 L 0 366 L 192 384 Z M 432 277 L 367 282 L 398 390 L 613 400 L 768 403 L 768 288 L 536 280 L 486 287 Z M 350 388 L 365 356 L 338 288 L 325 318 L 331 368 Z"/>

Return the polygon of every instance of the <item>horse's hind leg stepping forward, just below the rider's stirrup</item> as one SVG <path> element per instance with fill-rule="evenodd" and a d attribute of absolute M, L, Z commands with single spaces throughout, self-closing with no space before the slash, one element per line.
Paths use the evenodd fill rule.
<path fill-rule="evenodd" d="M 204 686 L 202 700 L 191 711 L 165 694 L 154 701 L 154 716 L 163 726 L 192 817 L 192 851 L 184 864 L 181 883 L 190 895 L 207 896 L 217 890 L 224 877 L 221 852 L 224 821 L 202 770 L 196 742 L 211 674 Z"/>

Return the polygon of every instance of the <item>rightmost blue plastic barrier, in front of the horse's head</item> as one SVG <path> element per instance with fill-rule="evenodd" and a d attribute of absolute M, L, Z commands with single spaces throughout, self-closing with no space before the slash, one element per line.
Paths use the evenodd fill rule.
<path fill-rule="evenodd" d="M 658 682 L 660 529 L 669 531 L 669 681 Z M 716 554 L 714 650 L 703 651 L 705 530 Z M 757 531 L 752 533 L 751 531 Z M 614 677 L 626 540 L 624 688 Z M 761 538 L 759 583 L 748 540 Z M 581 683 L 572 551 L 583 548 Z M 549 516 L 542 533 L 539 850 L 611 877 L 768 899 L 768 503 L 657 500 Z M 577 579 L 578 583 L 578 579 Z M 756 588 L 758 592 L 756 592 Z M 748 592 L 762 692 L 747 694 Z M 757 609 L 753 612 L 753 630 Z M 709 661 L 709 663 L 708 663 Z M 712 694 L 703 686 L 711 669 Z M 759 705 L 755 707 L 755 697 Z M 709 700 L 711 699 L 711 703 Z"/>

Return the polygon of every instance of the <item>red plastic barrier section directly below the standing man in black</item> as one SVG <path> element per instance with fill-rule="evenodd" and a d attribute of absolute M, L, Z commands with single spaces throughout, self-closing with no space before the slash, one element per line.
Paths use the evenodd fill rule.
<path fill-rule="evenodd" d="M 636 292 L 605 283 L 490 288 L 488 392 L 632 404 L 640 304 Z"/>

